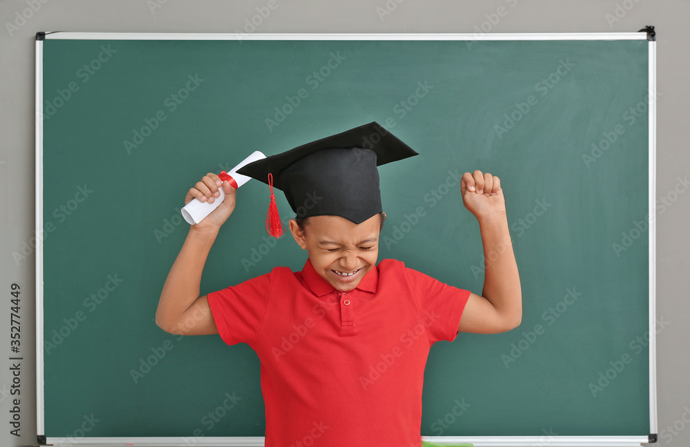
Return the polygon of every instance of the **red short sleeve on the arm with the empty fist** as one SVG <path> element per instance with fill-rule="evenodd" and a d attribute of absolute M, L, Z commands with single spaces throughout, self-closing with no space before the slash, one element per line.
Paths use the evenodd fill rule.
<path fill-rule="evenodd" d="M 449 286 L 411 268 L 405 268 L 405 274 L 417 300 L 429 342 L 455 340 L 470 291 Z"/>

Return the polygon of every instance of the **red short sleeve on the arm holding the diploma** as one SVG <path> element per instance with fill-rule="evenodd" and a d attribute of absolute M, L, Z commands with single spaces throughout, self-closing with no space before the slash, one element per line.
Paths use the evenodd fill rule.
<path fill-rule="evenodd" d="M 218 333 L 226 344 L 253 346 L 268 306 L 274 273 L 206 295 Z"/>

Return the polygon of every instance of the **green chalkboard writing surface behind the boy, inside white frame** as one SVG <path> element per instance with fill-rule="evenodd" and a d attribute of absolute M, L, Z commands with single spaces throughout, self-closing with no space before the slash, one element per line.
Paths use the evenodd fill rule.
<path fill-rule="evenodd" d="M 650 433 L 647 40 L 46 39 L 42 62 L 46 436 L 263 436 L 253 350 L 155 324 L 179 208 L 254 150 L 370 121 L 420 152 L 380 168 L 379 259 L 481 293 L 455 180 L 480 169 L 522 280 L 519 328 L 432 347 L 422 435 Z M 201 294 L 302 268 L 267 207 L 240 188 Z"/>

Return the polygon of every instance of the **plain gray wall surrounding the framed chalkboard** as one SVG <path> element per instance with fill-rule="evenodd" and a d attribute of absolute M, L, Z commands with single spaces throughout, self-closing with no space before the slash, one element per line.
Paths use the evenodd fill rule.
<path fill-rule="evenodd" d="M 631 32 L 654 25 L 658 32 L 657 197 L 666 200 L 657 225 L 659 444 L 690 445 L 690 304 L 687 301 L 690 195 L 681 180 L 690 175 L 687 150 L 690 89 L 688 1 L 442 1 L 388 0 L 397 8 L 383 17 L 386 0 L 275 0 L 255 32 L 475 32 L 499 6 L 508 14 L 489 32 Z M 152 8 L 157 2 L 160 8 Z M 34 259 L 17 265 L 12 251 L 34 236 L 34 34 L 37 31 L 236 32 L 268 0 L 3 0 L 0 2 L 0 289 L 8 315 L 10 284 L 21 285 L 21 438 L 8 434 L 13 396 L 10 365 L 0 372 L 2 445 L 36 442 L 34 362 Z M 162 3 L 162 4 L 160 4 Z M 33 5 L 35 11 L 27 8 Z M 512 6 L 511 6 L 512 5 Z M 22 12 L 28 19 L 18 18 Z M 9 25 L 8 25 L 9 23 Z M 16 27 L 16 28 L 15 28 Z M 680 186 L 679 186 L 680 185 Z M 682 191 L 676 195 L 673 192 Z M 602 179 L 602 194 L 607 185 Z M 670 194 L 669 194 L 670 193 Z M 682 228 L 686 228 L 683 230 Z M 667 323 L 665 323 L 667 322 Z M 0 339 L 10 345 L 9 318 L 0 319 Z M 7 349 L 7 350 L 6 350 Z M 3 348 L 8 352 L 8 348 Z M 1 362 L 7 363 L 8 356 Z M 86 372 L 75 371 L 75 374 Z"/>

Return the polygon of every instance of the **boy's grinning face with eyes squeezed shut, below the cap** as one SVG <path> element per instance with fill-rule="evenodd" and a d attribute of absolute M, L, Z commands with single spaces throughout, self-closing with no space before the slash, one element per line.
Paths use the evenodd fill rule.
<path fill-rule="evenodd" d="M 375 267 L 380 227 L 377 214 L 359 225 L 339 216 L 309 217 L 304 231 L 295 219 L 290 220 L 290 232 L 307 250 L 314 270 L 341 292 L 354 290 L 366 272 Z"/>

